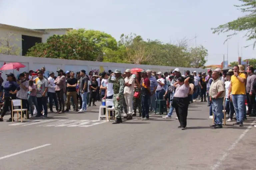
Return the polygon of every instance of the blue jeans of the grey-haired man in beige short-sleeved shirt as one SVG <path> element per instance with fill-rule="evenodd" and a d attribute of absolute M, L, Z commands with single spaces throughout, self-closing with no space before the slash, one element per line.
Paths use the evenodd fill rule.
<path fill-rule="evenodd" d="M 214 114 L 214 124 L 215 125 L 222 125 L 222 118 L 223 118 L 223 100 L 224 98 L 217 98 L 212 99 L 212 112 Z"/>

